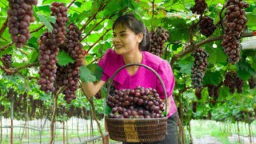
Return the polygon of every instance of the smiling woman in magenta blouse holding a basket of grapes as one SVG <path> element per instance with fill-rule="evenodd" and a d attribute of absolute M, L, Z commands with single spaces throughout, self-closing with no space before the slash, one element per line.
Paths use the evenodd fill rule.
<path fill-rule="evenodd" d="M 150 46 L 150 34 L 141 21 L 133 14 L 125 14 L 117 18 L 112 26 L 114 50 L 106 50 L 106 54 L 98 62 L 103 73 L 99 82 L 82 82 L 82 88 L 88 97 L 94 96 L 118 68 L 130 63 L 142 63 L 150 66 L 161 76 L 167 92 L 167 135 L 161 144 L 177 143 L 177 108 L 172 93 L 174 90 L 174 74 L 170 64 L 154 54 L 147 52 Z M 143 66 L 129 66 L 122 69 L 114 77 L 114 87 L 134 89 L 137 86 L 151 87 L 158 90 L 164 100 L 164 90 L 157 76 Z M 123 142 L 127 143 L 127 142 Z"/>

